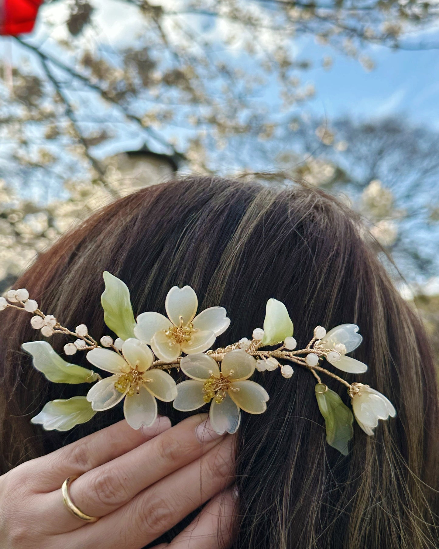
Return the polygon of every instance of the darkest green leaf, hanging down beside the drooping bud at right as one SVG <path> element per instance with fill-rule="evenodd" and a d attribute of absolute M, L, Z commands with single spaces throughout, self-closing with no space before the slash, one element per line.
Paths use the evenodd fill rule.
<path fill-rule="evenodd" d="M 326 440 L 330 446 L 347 456 L 348 442 L 353 436 L 352 412 L 335 391 L 325 391 L 323 383 L 317 383 L 315 391 L 320 413 L 325 418 Z"/>

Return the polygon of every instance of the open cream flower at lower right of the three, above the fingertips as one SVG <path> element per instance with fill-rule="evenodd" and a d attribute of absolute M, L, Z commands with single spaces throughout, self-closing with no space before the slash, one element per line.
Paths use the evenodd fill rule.
<path fill-rule="evenodd" d="M 235 433 L 240 410 L 259 414 L 267 409 L 267 391 L 248 379 L 255 371 L 256 361 L 241 349 L 224 355 L 221 371 L 211 356 L 202 353 L 185 356 L 180 367 L 192 379 L 177 385 L 173 406 L 189 412 L 212 401 L 209 417 L 217 433 Z"/>

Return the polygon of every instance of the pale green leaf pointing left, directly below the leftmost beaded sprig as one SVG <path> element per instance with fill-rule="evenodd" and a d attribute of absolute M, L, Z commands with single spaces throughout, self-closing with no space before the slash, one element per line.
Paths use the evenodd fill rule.
<path fill-rule="evenodd" d="M 29 341 L 21 347 L 32 355 L 33 366 L 54 383 L 92 383 L 99 378 L 93 370 L 63 360 L 47 341 Z"/>

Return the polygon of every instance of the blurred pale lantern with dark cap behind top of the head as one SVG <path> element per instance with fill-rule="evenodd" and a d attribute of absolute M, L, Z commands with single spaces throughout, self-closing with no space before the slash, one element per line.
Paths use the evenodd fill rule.
<path fill-rule="evenodd" d="M 178 170 L 178 160 L 175 155 L 153 153 L 145 144 L 140 149 L 109 156 L 105 164 L 119 172 L 123 186 L 140 188 L 172 177 Z"/>

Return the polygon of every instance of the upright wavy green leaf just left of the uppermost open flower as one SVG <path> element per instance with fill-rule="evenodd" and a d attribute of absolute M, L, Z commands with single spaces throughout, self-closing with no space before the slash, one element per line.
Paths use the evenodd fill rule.
<path fill-rule="evenodd" d="M 105 291 L 100 298 L 104 308 L 105 324 L 117 337 L 124 341 L 135 338 L 133 309 L 130 300 L 130 290 L 119 278 L 104 271 Z"/>

